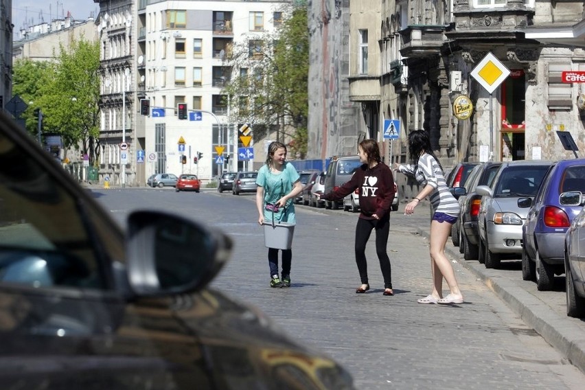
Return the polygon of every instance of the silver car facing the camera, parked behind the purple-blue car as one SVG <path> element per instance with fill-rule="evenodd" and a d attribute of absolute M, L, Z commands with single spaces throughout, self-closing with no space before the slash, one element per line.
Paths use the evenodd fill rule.
<path fill-rule="evenodd" d="M 551 165 L 551 161 L 504 162 L 490 187 L 477 186 L 477 194 L 483 196 L 477 229 L 485 268 L 496 268 L 504 258 L 522 255 L 522 225 Z"/>

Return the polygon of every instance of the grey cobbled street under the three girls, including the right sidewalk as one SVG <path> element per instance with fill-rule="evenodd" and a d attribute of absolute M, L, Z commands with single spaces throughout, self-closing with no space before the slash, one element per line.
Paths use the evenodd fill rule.
<path fill-rule="evenodd" d="M 92 192 L 122 224 L 133 209 L 157 208 L 229 233 L 235 241 L 232 260 L 212 285 L 253 303 L 288 334 L 330 354 L 352 372 L 358 389 L 582 389 L 585 383 L 568 352 L 551 347 L 554 343 L 528 325 L 526 314 L 509 306 L 513 299 L 501 299 L 497 286 L 510 284 L 520 301 L 554 302 L 558 326 L 585 340 L 583 321 L 561 310 L 564 291 L 537 292 L 536 285 L 522 281 L 519 263 L 484 268 L 489 277 L 483 277 L 482 265 L 465 262 L 449 243 L 465 302 L 416 303 L 431 289 L 428 207 L 407 217 L 401 205 L 391 215 L 388 249 L 395 295 L 385 297 L 374 237 L 367 247 L 372 289 L 354 292 L 360 284 L 353 253 L 357 214 L 297 206 L 292 287 L 274 289 L 268 286 L 267 249 L 253 194 L 167 188 Z M 542 317 L 553 310 L 547 307 L 540 307 Z"/>

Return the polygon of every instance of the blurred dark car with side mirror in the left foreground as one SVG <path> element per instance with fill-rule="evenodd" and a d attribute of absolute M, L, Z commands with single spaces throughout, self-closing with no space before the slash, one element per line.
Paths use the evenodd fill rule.
<path fill-rule="evenodd" d="M 231 239 L 135 211 L 125 231 L 0 114 L 2 389 L 353 389 L 347 371 L 208 288 Z"/>

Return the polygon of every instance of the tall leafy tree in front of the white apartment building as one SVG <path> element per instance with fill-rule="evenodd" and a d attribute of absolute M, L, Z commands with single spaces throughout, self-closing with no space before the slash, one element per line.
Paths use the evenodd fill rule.
<path fill-rule="evenodd" d="M 275 34 L 253 34 L 228 53 L 233 77 L 223 89 L 231 103 L 230 119 L 260 129 L 277 128 L 292 139 L 290 154 L 307 150 L 309 33 L 304 2 L 283 12 L 290 17 Z M 279 137 L 284 139 L 284 137 Z"/>

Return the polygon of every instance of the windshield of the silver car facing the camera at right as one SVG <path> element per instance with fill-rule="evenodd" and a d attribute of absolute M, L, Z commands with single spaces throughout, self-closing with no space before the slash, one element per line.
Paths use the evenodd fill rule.
<path fill-rule="evenodd" d="M 494 197 L 536 196 L 549 165 L 522 165 L 505 168 L 496 183 Z"/>

